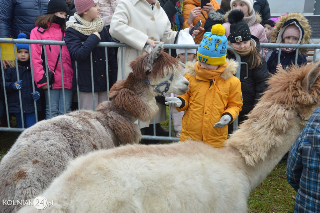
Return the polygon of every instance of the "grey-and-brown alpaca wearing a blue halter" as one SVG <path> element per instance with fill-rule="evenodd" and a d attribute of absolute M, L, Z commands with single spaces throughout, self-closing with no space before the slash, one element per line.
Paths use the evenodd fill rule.
<path fill-rule="evenodd" d="M 33 199 L 78 156 L 139 143 L 140 127 L 134 122 L 149 121 L 156 115 L 156 89 L 178 94 L 188 90 L 189 82 L 179 72 L 180 63 L 163 51 L 163 44 L 137 57 L 131 67 L 133 72 L 127 79 L 110 89 L 110 101 L 100 103 L 96 111 L 79 110 L 41 121 L 19 136 L 0 164 L 1 201 Z M 146 81 L 167 84 L 157 87 Z M 0 212 L 18 208 L 2 206 Z"/>

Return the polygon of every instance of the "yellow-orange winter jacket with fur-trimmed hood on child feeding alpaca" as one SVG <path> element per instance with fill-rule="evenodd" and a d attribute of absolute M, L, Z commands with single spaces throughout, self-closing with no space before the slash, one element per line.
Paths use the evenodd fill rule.
<path fill-rule="evenodd" d="M 224 113 L 232 116 L 232 123 L 241 111 L 241 83 L 234 76 L 239 64 L 233 59 L 227 59 L 225 70 L 212 81 L 196 73 L 197 64 L 187 63 L 184 73 L 190 82 L 190 89 L 186 94 L 178 96 L 185 101 L 185 105 L 175 108 L 177 111 L 186 110 L 182 118 L 180 141 L 191 138 L 214 147 L 224 147 L 228 125 L 217 129 L 212 127 Z"/>

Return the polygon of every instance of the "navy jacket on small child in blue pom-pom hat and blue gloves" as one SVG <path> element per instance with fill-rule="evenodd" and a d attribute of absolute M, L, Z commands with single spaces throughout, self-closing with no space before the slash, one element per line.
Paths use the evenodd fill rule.
<path fill-rule="evenodd" d="M 32 90 L 33 81 L 31 79 L 30 64 L 27 64 L 25 66 L 20 66 L 19 64 L 18 70 L 19 70 L 19 80 L 22 80 L 22 89 L 20 89 L 20 91 L 21 91 L 23 113 L 35 112 L 34 100 L 31 95 L 31 93 L 33 92 Z M 20 113 L 19 90 L 10 89 L 10 84 L 12 84 L 15 81 L 18 81 L 17 71 L 15 66 L 11 66 L 11 67 L 7 66 L 7 69 L 4 71 L 4 80 L 5 80 L 5 89 L 7 92 L 9 113 Z M 38 91 L 40 95 L 42 95 L 43 90 L 40 88 L 37 88 L 36 83 L 34 83 L 34 85 L 35 85 L 35 90 Z M 2 78 L 0 79 L 0 87 L 2 90 L 4 90 Z M 37 111 L 41 111 L 40 99 L 37 100 L 36 102 Z"/>

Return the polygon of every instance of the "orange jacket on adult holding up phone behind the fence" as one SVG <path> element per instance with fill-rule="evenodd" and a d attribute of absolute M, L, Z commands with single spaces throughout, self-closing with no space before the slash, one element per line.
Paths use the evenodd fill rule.
<path fill-rule="evenodd" d="M 216 0 L 210 0 L 210 3 L 213 6 L 212 10 L 220 9 L 220 5 Z M 183 1 L 183 13 L 182 13 L 182 15 L 183 15 L 183 29 L 190 27 L 190 25 L 187 23 L 187 20 L 189 18 L 191 10 L 193 10 L 193 8 L 196 8 L 196 7 L 200 7 L 200 1 L 199 2 L 198 2 L 198 0 L 184 0 Z M 204 27 L 205 21 L 208 18 L 208 14 L 204 10 L 202 10 L 202 13 L 204 14 L 204 16 L 201 14 L 200 16 L 196 17 L 195 20 L 193 20 L 193 22 L 192 22 L 193 26 L 195 26 L 196 23 L 199 20 L 201 20 L 201 22 L 202 22 L 201 27 Z M 204 30 L 200 30 L 200 33 L 194 39 L 196 44 L 200 44 L 204 33 L 205 33 Z"/>

